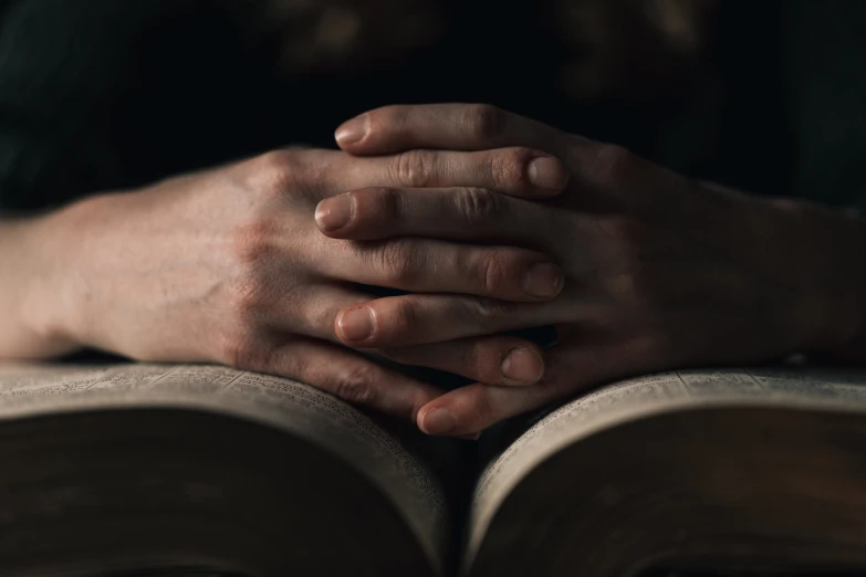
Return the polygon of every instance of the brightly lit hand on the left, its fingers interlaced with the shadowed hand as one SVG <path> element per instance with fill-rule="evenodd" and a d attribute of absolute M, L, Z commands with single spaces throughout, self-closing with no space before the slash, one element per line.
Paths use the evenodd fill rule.
<path fill-rule="evenodd" d="M 525 149 L 373 159 L 279 150 L 84 200 L 42 223 L 51 228 L 41 238 L 72 240 L 54 246 L 55 292 L 42 306 L 56 303 L 61 311 L 42 333 L 136 359 L 215 361 L 283 375 L 413 417 L 440 391 L 338 345 L 337 335 L 364 328 L 364 319 L 335 324 L 340 310 L 371 300 L 356 284 L 543 302 L 562 286 L 559 269 L 550 256 L 519 248 L 332 240 L 317 231 L 314 209 L 340 190 L 374 185 L 459 182 L 513 195 L 556 193 L 528 179 L 536 158 L 551 160 Z M 341 216 L 320 210 L 316 217 L 327 228 Z M 517 354 L 503 370 L 509 353 Z M 543 373 L 538 347 L 513 337 L 406 354 L 415 364 L 502 385 L 529 385 Z M 390 356 L 401 358 L 397 350 Z"/>

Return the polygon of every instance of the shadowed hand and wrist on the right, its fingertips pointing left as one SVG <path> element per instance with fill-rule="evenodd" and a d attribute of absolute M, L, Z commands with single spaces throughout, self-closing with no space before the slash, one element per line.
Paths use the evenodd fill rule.
<path fill-rule="evenodd" d="M 419 412 L 428 433 L 470 434 L 627 376 L 838 348 L 859 323 L 864 285 L 852 277 L 862 276 L 853 271 L 862 269 L 864 228 L 830 211 L 696 182 L 623 148 L 486 106 L 382 108 L 342 127 L 337 140 L 355 155 L 531 146 L 571 171 L 566 192 L 544 202 L 483 188 L 346 195 L 358 210 L 327 232 L 333 238 L 504 242 L 553 254 L 564 271 L 563 292 L 546 303 L 414 294 L 348 308 L 376 319 L 366 339 L 344 338 L 353 346 L 556 326 L 559 345 L 536 386 L 451 391 Z M 384 206 L 400 207 L 399 218 L 377 209 Z"/>

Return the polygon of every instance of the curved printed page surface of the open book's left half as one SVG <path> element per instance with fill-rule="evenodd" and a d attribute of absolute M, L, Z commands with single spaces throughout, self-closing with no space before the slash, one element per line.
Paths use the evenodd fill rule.
<path fill-rule="evenodd" d="M 430 562 L 439 565 L 446 546 L 446 507 L 434 478 L 368 417 L 311 386 L 201 365 L 0 364 L 0 419 L 148 407 L 255 420 L 337 454 L 390 497 Z"/>

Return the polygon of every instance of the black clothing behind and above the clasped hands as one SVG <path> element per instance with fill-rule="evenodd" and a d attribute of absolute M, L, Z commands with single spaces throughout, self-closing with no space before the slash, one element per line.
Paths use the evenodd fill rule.
<path fill-rule="evenodd" d="M 217 1 L 10 0 L 0 209 L 44 209 L 290 143 L 332 146 L 341 122 L 413 102 L 488 102 L 755 193 L 866 204 L 864 2 L 729 0 L 707 82 L 641 105 L 568 101 L 533 2 L 455 6 L 444 42 L 399 71 L 281 78 Z"/>

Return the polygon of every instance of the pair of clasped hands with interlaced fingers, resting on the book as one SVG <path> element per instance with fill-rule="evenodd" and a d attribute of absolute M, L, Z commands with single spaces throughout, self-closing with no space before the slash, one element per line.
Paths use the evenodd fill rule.
<path fill-rule="evenodd" d="M 61 312 L 41 333 L 296 378 L 471 436 L 612 379 L 828 349 L 856 331 L 847 295 L 826 298 L 841 267 L 821 239 L 838 227 L 811 208 L 480 105 L 377 109 L 337 141 L 52 217 L 76 231 L 55 267 L 74 274 L 50 283 Z M 504 334 L 546 325 L 549 350 Z M 477 384 L 445 392 L 376 355 Z"/>

